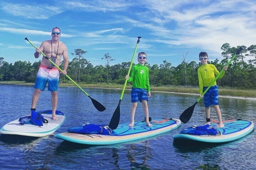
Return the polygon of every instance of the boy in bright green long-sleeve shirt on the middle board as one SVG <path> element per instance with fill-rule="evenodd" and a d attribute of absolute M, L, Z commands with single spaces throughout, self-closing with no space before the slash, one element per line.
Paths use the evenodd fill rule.
<path fill-rule="evenodd" d="M 148 97 L 151 96 L 149 85 L 149 68 L 144 65 L 147 61 L 147 54 L 145 52 L 140 52 L 138 54 L 138 61 L 139 63 L 133 66 L 131 76 L 125 76 L 125 79 L 128 79 L 129 82 L 133 82 L 131 91 L 131 123 L 129 126 L 132 127 L 134 124 L 134 116 L 136 107 L 138 105 L 138 100 L 142 103 L 147 125 L 152 126 L 149 123 L 149 109 L 147 103 Z"/>

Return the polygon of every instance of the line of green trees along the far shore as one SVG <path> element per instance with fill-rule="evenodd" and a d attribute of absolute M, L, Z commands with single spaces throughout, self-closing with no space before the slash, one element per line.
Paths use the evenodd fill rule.
<path fill-rule="evenodd" d="M 239 47 L 239 46 L 238 46 Z M 215 59 L 211 61 L 217 69 L 222 70 L 223 66 L 230 58 L 236 53 L 238 47 L 231 47 L 229 43 L 222 45 L 222 57 L 219 61 Z M 255 88 L 256 87 L 256 45 L 246 47 L 241 46 L 243 50 L 237 55 L 235 60 L 229 65 L 225 76 L 218 80 L 218 85 L 235 87 L 235 88 Z M 69 62 L 68 75 L 76 82 L 85 84 L 123 84 L 124 76 L 127 74 L 130 62 L 118 63 L 110 65 L 115 60 L 109 53 L 104 54 L 102 60 L 105 60 L 105 66 L 93 66 L 88 61 L 84 54 L 87 51 L 82 49 L 75 49 L 75 53 L 71 53 L 74 58 Z M 168 86 L 168 85 L 181 85 L 181 86 L 198 86 L 197 69 L 201 66 L 200 62 L 186 61 L 188 51 L 182 54 L 182 62 L 174 67 L 166 60 L 162 64 L 146 63 L 149 67 L 149 80 L 151 86 Z M 245 62 L 245 58 L 252 56 L 251 60 Z M 0 80 L 1 81 L 25 81 L 35 82 L 40 62 L 30 63 L 29 61 L 16 61 L 8 63 L 4 61 L 4 57 L 0 57 Z M 60 68 L 62 68 L 61 63 Z M 65 76 L 60 77 L 60 82 L 69 82 Z"/>

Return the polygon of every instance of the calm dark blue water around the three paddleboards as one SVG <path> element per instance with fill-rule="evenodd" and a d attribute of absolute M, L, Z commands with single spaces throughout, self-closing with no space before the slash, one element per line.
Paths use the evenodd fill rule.
<path fill-rule="evenodd" d="M 121 90 L 84 88 L 107 110 L 98 112 L 91 100 L 76 87 L 59 87 L 58 110 L 66 114 L 65 123 L 54 133 L 86 122 L 108 125 L 117 107 Z M 33 86 L 0 85 L 0 126 L 30 113 Z M 198 96 L 152 92 L 149 114 L 154 118 L 179 118 Z M 37 110 L 51 109 L 50 92 L 43 91 Z M 220 98 L 223 119 L 256 120 L 256 100 Z M 120 123 L 130 121 L 130 91 L 120 105 Z M 212 113 L 211 117 L 216 118 Z M 138 105 L 136 120 L 144 119 Z M 200 101 L 187 124 L 173 131 L 129 143 L 89 146 L 54 138 L 0 135 L 1 169 L 255 169 L 256 135 L 252 131 L 240 140 L 224 144 L 177 143 L 172 136 L 182 129 L 205 121 Z"/>

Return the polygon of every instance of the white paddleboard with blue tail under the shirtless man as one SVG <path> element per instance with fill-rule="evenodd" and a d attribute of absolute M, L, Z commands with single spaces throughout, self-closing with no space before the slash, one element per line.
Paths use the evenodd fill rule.
<path fill-rule="evenodd" d="M 48 120 L 48 123 L 44 123 L 43 126 L 37 126 L 33 124 L 20 125 L 19 119 L 7 123 L 0 129 L 1 134 L 16 134 L 22 136 L 43 137 L 52 134 L 56 131 L 66 119 L 64 113 L 56 110 L 56 117 L 58 120 L 52 119 L 52 110 L 45 110 L 37 112 L 40 113 L 44 119 Z"/>

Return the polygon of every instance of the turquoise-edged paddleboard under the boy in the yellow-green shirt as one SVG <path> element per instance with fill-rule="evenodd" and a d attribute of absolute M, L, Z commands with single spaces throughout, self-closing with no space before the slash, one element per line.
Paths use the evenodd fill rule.
<path fill-rule="evenodd" d="M 190 140 L 210 143 L 221 143 L 234 141 L 242 138 L 254 130 L 254 123 L 249 120 L 232 120 L 223 122 L 223 128 L 216 128 L 221 132 L 220 135 L 194 135 L 194 134 L 175 134 L 174 140 Z M 217 123 L 212 123 L 212 127 L 216 127 Z M 184 129 L 186 130 L 186 129 Z"/>

